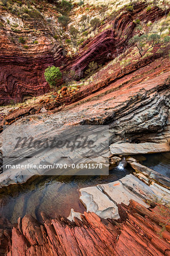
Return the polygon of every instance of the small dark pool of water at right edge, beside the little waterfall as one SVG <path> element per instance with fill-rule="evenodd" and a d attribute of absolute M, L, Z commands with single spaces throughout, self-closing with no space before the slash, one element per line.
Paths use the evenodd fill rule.
<path fill-rule="evenodd" d="M 143 155 L 145 160 L 140 161 L 144 166 L 170 178 L 170 152 Z"/>

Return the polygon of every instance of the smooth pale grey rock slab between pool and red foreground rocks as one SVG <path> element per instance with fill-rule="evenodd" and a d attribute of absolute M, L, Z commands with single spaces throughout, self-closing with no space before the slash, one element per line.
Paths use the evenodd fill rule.
<path fill-rule="evenodd" d="M 152 181 L 150 176 L 143 178 L 143 181 L 130 174 L 112 183 L 81 188 L 80 200 L 86 207 L 87 212 L 95 212 L 103 218 L 116 219 L 120 217 L 118 215 L 118 204 L 124 203 L 127 205 L 131 199 L 144 207 L 148 207 L 147 200 L 160 200 L 163 204 L 169 204 L 170 193 L 168 189 Z"/>

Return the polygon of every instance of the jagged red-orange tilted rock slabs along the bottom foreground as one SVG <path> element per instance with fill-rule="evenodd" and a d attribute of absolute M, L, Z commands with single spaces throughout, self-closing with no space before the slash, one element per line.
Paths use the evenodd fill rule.
<path fill-rule="evenodd" d="M 119 220 L 104 220 L 86 213 L 75 222 L 42 214 L 43 224 L 30 215 L 19 218 L 12 228 L 2 230 L 4 255 L 169 255 L 169 208 L 147 209 L 131 200 L 118 205 Z M 126 241 L 126 242 L 125 242 Z"/>

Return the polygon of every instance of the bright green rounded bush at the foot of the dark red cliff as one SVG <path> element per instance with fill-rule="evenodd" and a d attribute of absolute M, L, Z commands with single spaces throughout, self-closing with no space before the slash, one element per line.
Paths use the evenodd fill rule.
<path fill-rule="evenodd" d="M 61 79 L 62 73 L 59 68 L 52 66 L 45 69 L 44 76 L 45 80 L 49 83 L 50 88 L 53 88 L 56 86 L 57 81 Z"/>

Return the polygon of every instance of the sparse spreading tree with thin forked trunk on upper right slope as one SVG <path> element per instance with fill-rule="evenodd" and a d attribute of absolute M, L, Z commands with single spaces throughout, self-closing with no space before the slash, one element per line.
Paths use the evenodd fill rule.
<path fill-rule="evenodd" d="M 150 36 L 135 35 L 133 38 L 129 40 L 130 44 L 134 44 L 138 48 L 138 51 L 141 57 L 143 57 L 149 49 L 156 46 L 156 44 L 158 44 L 159 42 L 160 42 L 160 36 L 158 34 L 151 34 Z M 146 43 L 150 44 L 150 46 L 147 49 L 145 48 Z"/>

